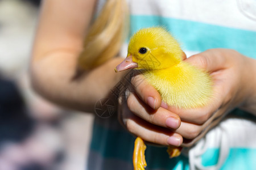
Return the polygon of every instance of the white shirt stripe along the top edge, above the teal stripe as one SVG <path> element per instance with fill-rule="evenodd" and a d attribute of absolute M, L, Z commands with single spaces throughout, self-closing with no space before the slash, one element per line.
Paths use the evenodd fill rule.
<path fill-rule="evenodd" d="M 256 1 L 128 0 L 133 15 L 160 15 L 256 31 Z M 247 7 L 247 8 L 246 8 Z"/>

